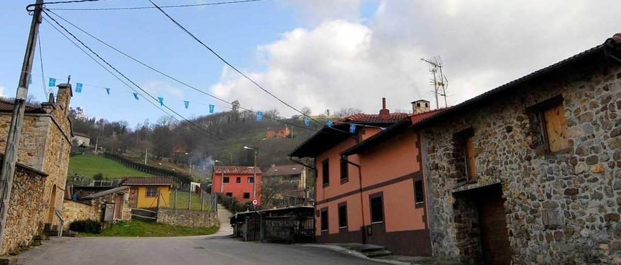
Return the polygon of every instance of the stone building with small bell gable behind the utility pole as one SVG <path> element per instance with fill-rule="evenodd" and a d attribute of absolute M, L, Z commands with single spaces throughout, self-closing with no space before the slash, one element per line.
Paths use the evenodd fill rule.
<path fill-rule="evenodd" d="M 22 175 L 16 170 L 14 175 L 11 206 L 0 254 L 14 251 L 24 242 L 30 241 L 44 224 L 59 224 L 55 211 L 61 211 L 63 206 L 73 137 L 71 121 L 67 116 L 71 96 L 71 85 L 60 84 L 56 98 L 52 94 L 48 102 L 26 106 L 17 162 L 27 170 Z M 13 106 L 8 100 L 0 100 L 0 150 L 6 147 Z M 39 176 L 35 178 L 36 175 Z M 24 180 L 22 176 L 30 179 Z M 30 188 L 19 185 L 30 185 Z M 17 199 L 16 204 L 12 203 L 13 198 Z M 32 222 L 22 222 L 25 217 Z M 9 241 L 12 237 L 17 238 Z"/>

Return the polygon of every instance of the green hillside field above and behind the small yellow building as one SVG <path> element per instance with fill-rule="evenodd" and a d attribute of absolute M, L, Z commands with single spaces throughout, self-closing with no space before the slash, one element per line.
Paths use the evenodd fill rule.
<path fill-rule="evenodd" d="M 101 172 L 106 180 L 119 178 L 122 176 L 153 176 L 148 173 L 125 167 L 119 162 L 93 154 L 74 155 L 69 159 L 69 170 L 67 176 L 78 176 L 93 178 L 93 175 Z"/>

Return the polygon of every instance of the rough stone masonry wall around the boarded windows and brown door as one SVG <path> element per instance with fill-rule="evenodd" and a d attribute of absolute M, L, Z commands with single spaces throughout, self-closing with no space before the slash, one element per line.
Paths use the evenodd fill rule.
<path fill-rule="evenodd" d="M 422 129 L 434 256 L 480 263 L 476 211 L 453 195 L 500 183 L 513 264 L 621 264 L 621 66 L 598 61 L 525 84 Z M 563 95 L 571 148 L 546 152 L 527 106 Z M 474 131 L 476 179 L 453 134 Z"/>

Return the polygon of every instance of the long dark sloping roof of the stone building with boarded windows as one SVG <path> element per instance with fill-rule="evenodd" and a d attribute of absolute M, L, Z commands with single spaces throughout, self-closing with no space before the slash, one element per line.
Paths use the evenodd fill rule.
<path fill-rule="evenodd" d="M 466 111 L 469 108 L 479 106 L 481 105 L 481 103 L 486 102 L 487 100 L 491 100 L 492 98 L 497 97 L 502 93 L 513 92 L 514 90 L 520 89 L 520 85 L 526 84 L 527 82 L 530 82 L 537 78 L 544 77 L 553 71 L 561 69 L 561 67 L 574 65 L 585 59 L 594 58 L 597 56 L 605 56 L 605 54 L 608 53 L 607 49 L 617 51 L 621 50 L 621 33 L 617 33 L 612 38 L 608 38 L 601 45 L 597 45 L 589 50 L 582 51 L 581 53 L 575 54 L 574 56 L 559 61 L 558 63 L 552 64 L 535 72 L 527 74 L 526 76 L 520 77 L 519 79 L 512 80 L 511 82 L 508 82 L 504 85 L 496 87 L 495 89 L 489 90 L 485 93 L 482 93 L 481 95 L 478 95 L 474 98 L 466 100 L 465 102 L 455 105 L 452 108 L 448 108 L 438 113 L 437 115 L 433 115 L 429 118 L 423 119 L 414 126 L 416 128 L 423 128 L 424 126 L 427 126 L 428 124 L 431 124 L 433 122 L 443 121 L 451 115 L 459 115 L 460 113 L 463 113 L 463 111 Z"/>

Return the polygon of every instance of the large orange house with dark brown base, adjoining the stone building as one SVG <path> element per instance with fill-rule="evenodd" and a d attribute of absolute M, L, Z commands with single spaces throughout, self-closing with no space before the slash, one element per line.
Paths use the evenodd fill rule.
<path fill-rule="evenodd" d="M 347 123 L 356 123 L 355 134 L 324 128 L 291 153 L 315 159 L 317 242 L 430 256 L 420 141 L 408 128 L 435 111 L 418 105 L 414 115 L 391 114 L 384 103 L 379 115 L 353 115 L 333 126 L 347 132 Z"/>

